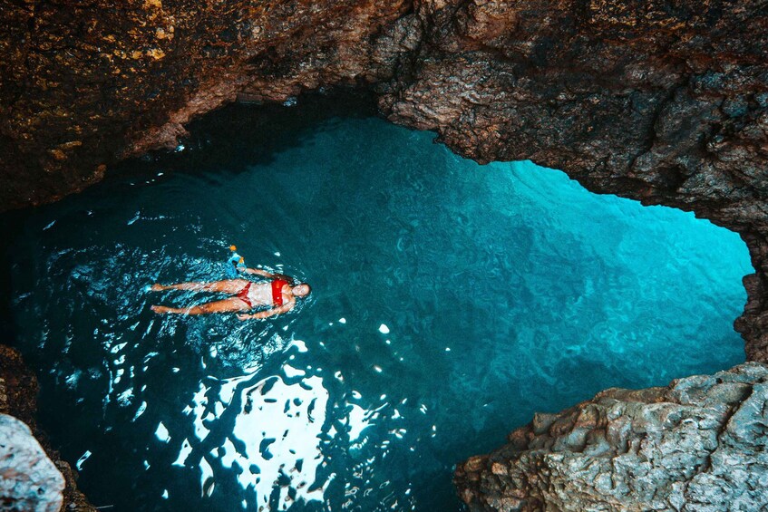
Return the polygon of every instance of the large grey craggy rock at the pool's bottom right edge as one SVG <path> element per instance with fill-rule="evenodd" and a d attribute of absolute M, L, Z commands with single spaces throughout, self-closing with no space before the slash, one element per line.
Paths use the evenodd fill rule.
<path fill-rule="evenodd" d="M 768 366 L 746 363 L 537 414 L 455 482 L 471 510 L 763 510 L 766 431 Z"/>

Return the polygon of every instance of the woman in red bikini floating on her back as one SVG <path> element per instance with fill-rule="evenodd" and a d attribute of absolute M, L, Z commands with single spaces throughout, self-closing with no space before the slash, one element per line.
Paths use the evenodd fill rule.
<path fill-rule="evenodd" d="M 266 277 L 271 281 L 267 283 L 255 283 L 247 279 L 226 279 L 212 283 L 179 283 L 176 285 L 152 285 L 152 292 L 164 290 L 190 290 L 200 292 L 213 292 L 217 294 L 232 295 L 227 299 L 214 301 L 207 304 L 199 304 L 191 307 L 166 307 L 153 305 L 151 310 L 155 313 L 178 314 L 209 314 L 209 313 L 233 313 L 249 311 L 255 307 L 266 305 L 269 309 L 254 314 L 238 314 L 240 320 L 248 318 L 267 318 L 275 314 L 287 313 L 296 305 L 297 298 L 304 298 L 312 291 L 306 283 L 296 283 L 287 275 L 270 274 L 259 268 L 244 268 L 241 272 Z"/>

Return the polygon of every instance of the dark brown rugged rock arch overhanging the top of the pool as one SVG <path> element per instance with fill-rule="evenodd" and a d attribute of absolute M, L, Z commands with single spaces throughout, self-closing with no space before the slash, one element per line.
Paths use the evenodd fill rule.
<path fill-rule="evenodd" d="M 532 159 L 739 232 L 756 272 L 736 326 L 747 359 L 768 362 L 762 1 L 5 0 L 0 16 L 0 209 L 174 147 L 185 122 L 230 101 L 365 87 L 388 119 L 463 156 Z M 462 492 L 492 494 L 477 460 Z"/>

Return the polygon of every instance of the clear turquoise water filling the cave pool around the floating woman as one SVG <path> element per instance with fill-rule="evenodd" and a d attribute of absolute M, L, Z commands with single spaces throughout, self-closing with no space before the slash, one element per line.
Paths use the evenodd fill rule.
<path fill-rule="evenodd" d="M 457 509 L 452 466 L 534 411 L 744 360 L 752 268 L 708 221 L 376 118 L 261 125 L 268 150 L 216 126 L 5 217 L 9 325 L 95 505 Z M 205 300 L 143 287 L 223 278 L 230 244 L 311 300 L 151 313 Z"/>

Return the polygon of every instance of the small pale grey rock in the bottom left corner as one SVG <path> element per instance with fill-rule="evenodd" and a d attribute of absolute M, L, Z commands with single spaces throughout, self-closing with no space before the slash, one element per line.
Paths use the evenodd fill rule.
<path fill-rule="evenodd" d="M 32 431 L 0 414 L 0 510 L 58 512 L 64 478 Z"/>

